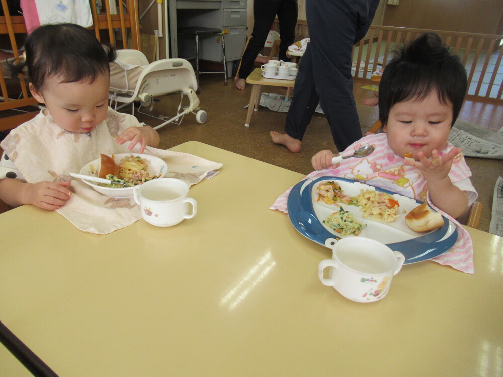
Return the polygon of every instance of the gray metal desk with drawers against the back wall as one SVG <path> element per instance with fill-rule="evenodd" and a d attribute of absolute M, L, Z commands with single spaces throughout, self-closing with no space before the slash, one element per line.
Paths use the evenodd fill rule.
<path fill-rule="evenodd" d="M 179 9 L 177 26 L 204 26 L 225 31 L 225 57 L 227 72 L 232 74 L 232 62 L 240 60 L 246 43 L 246 0 L 222 0 L 219 9 Z M 207 35 L 199 38 L 199 58 L 221 62 L 220 36 Z M 178 56 L 194 56 L 194 40 L 178 34 Z"/>

